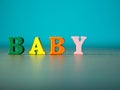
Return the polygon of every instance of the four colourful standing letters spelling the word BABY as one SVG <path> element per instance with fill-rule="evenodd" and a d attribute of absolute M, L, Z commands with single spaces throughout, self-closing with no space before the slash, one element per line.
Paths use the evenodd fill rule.
<path fill-rule="evenodd" d="M 74 52 L 74 54 L 83 54 L 82 45 L 87 37 L 72 36 L 71 38 L 76 45 L 76 51 Z M 10 51 L 9 51 L 10 55 L 20 55 L 24 52 L 25 49 L 22 45 L 24 43 L 24 39 L 22 37 L 10 37 L 9 40 L 10 40 Z M 60 55 L 65 52 L 65 47 L 63 46 L 65 42 L 64 38 L 50 37 L 50 40 L 51 40 L 51 51 L 49 53 L 50 55 Z M 35 40 L 33 42 L 31 50 L 29 51 L 29 54 L 30 55 L 46 54 L 39 37 L 35 37 Z"/>

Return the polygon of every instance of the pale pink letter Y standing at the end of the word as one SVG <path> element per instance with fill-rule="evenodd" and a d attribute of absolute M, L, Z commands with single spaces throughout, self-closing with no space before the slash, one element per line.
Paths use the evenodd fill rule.
<path fill-rule="evenodd" d="M 71 37 L 76 45 L 76 51 L 74 52 L 74 54 L 81 54 L 83 55 L 83 52 L 82 52 L 82 44 L 84 43 L 85 39 L 87 37 L 85 36 L 81 36 L 81 40 L 79 41 L 79 36 L 72 36 Z"/>

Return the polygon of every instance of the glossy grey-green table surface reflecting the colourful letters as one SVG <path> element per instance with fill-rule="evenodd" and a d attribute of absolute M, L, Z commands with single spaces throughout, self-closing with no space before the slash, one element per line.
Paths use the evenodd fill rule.
<path fill-rule="evenodd" d="M 0 50 L 1 89 L 118 90 L 120 49 L 86 49 L 85 55 L 8 55 Z"/>

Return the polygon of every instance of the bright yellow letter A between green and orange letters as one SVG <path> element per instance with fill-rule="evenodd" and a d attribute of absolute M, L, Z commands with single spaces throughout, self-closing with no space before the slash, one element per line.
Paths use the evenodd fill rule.
<path fill-rule="evenodd" d="M 35 37 L 33 46 L 31 48 L 31 50 L 29 51 L 29 54 L 31 54 L 31 55 L 36 55 L 36 54 L 45 55 L 46 54 L 42 47 L 39 37 Z"/>

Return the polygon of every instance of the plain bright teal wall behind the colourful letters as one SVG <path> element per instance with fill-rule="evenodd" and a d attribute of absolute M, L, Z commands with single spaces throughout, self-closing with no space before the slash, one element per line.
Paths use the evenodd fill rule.
<path fill-rule="evenodd" d="M 120 0 L 0 0 L 0 46 L 22 36 L 31 46 L 36 36 L 50 46 L 50 36 L 87 36 L 84 47 L 120 48 Z"/>

